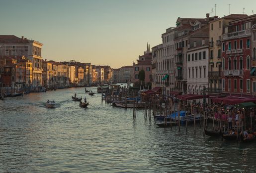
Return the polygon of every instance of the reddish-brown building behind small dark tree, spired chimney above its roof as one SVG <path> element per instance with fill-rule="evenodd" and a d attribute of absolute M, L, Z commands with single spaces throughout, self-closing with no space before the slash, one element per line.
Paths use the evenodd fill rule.
<path fill-rule="evenodd" d="M 145 71 L 145 83 L 151 82 L 152 80 L 152 52 L 150 51 L 149 44 L 147 45 L 147 51 L 144 52 L 144 55 L 139 56 L 139 59 L 137 59 L 137 64 L 133 62 L 133 71 L 134 71 L 134 82 L 139 81 L 139 72 L 141 70 Z"/>

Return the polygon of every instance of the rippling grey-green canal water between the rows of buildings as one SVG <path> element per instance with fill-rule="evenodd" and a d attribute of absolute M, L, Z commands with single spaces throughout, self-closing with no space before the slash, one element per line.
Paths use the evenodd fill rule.
<path fill-rule="evenodd" d="M 96 92 L 96 87 L 87 87 Z M 86 95 L 80 108 L 71 95 Z M 54 100 L 56 108 L 45 102 Z M 67 88 L 0 101 L 0 172 L 192 173 L 256 172 L 256 143 L 157 128 L 144 111 L 112 107 L 101 94 Z"/>

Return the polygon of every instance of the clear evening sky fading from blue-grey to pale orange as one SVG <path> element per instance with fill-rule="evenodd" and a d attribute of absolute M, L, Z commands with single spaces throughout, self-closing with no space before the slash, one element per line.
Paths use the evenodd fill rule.
<path fill-rule="evenodd" d="M 43 43 L 47 60 L 120 68 L 162 43 L 177 17 L 256 14 L 256 0 L 0 0 L 0 35 Z"/>

